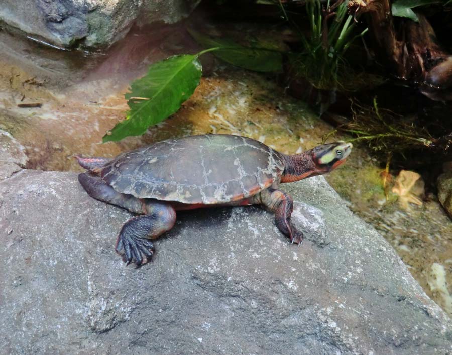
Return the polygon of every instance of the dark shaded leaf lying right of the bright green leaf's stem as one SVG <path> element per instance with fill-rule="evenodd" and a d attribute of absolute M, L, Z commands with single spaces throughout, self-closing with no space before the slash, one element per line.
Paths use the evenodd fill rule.
<path fill-rule="evenodd" d="M 266 48 L 243 47 L 231 40 L 210 38 L 189 30 L 193 38 L 205 48 L 219 47 L 212 54 L 232 65 L 260 72 L 281 72 L 282 55 Z"/>

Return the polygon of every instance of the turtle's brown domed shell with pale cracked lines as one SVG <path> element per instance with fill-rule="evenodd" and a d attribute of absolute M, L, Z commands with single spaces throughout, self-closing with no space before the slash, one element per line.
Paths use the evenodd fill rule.
<path fill-rule="evenodd" d="M 123 153 L 100 176 L 138 198 L 189 204 L 237 201 L 279 182 L 284 158 L 265 144 L 233 135 L 171 139 Z"/>

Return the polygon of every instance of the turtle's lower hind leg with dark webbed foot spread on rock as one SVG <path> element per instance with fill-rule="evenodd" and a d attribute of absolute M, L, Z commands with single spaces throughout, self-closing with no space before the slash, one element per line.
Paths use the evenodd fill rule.
<path fill-rule="evenodd" d="M 115 250 L 118 253 L 124 250 L 126 264 L 132 260 L 138 266 L 148 262 L 155 252 L 150 239 L 170 230 L 176 222 L 176 211 L 171 205 L 152 201 L 146 207 L 148 214 L 129 219 L 118 235 Z"/>

